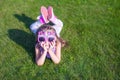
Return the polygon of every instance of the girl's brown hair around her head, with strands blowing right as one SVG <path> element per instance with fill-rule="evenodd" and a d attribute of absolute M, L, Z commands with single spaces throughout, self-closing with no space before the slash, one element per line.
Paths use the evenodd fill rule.
<path fill-rule="evenodd" d="M 58 37 L 57 34 L 56 34 L 56 30 L 51 25 L 48 25 L 48 24 L 44 24 L 44 25 L 40 26 L 40 28 L 37 30 L 36 41 L 37 41 L 37 38 L 38 38 L 38 32 L 43 31 L 43 30 L 53 30 L 55 32 L 57 40 L 61 42 L 62 47 L 64 47 L 66 45 L 66 41 L 63 40 L 62 38 Z"/>

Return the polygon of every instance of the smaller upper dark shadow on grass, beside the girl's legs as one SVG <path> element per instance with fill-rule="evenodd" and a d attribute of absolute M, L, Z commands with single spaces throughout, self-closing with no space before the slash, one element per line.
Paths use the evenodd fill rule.
<path fill-rule="evenodd" d="M 26 28 L 29 28 L 29 26 L 35 22 L 32 18 L 26 16 L 25 14 L 14 14 L 14 17 L 16 17 L 19 21 L 22 21 L 25 24 Z"/>

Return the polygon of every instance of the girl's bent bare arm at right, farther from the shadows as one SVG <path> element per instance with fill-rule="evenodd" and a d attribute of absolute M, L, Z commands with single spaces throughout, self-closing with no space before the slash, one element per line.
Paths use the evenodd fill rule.
<path fill-rule="evenodd" d="M 55 64 L 58 64 L 61 60 L 61 43 L 57 41 L 56 53 L 49 49 L 49 55 Z"/>

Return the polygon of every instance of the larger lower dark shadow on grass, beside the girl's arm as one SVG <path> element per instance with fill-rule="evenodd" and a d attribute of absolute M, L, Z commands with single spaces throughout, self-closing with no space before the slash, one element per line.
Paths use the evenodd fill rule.
<path fill-rule="evenodd" d="M 8 36 L 11 40 L 22 46 L 27 52 L 28 55 L 34 60 L 34 44 L 35 44 L 35 37 L 32 34 L 29 34 L 25 31 L 18 30 L 18 29 L 9 29 Z"/>

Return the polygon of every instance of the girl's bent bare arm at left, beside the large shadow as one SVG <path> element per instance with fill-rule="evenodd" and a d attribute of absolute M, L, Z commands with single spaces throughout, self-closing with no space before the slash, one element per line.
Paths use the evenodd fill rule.
<path fill-rule="evenodd" d="M 39 46 L 39 44 L 37 43 L 36 46 L 35 46 L 35 53 L 36 53 L 35 60 L 36 60 L 37 65 L 42 66 L 45 62 L 47 51 L 44 51 L 43 53 L 40 53 L 40 49 L 39 49 L 38 46 Z"/>

